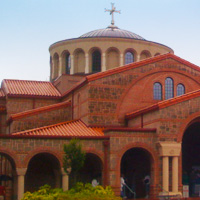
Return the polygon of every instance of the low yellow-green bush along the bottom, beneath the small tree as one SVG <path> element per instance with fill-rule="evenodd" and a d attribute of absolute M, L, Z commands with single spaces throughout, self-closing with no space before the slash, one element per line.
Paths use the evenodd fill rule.
<path fill-rule="evenodd" d="M 62 189 L 52 189 L 49 185 L 40 187 L 33 193 L 26 192 L 22 200 L 121 200 L 116 197 L 110 186 L 92 187 L 90 183 L 77 183 L 72 189 L 63 192 Z"/>

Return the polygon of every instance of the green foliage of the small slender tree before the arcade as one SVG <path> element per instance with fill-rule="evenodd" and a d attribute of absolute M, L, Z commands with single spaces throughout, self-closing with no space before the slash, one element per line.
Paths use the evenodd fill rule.
<path fill-rule="evenodd" d="M 79 140 L 72 139 L 69 144 L 64 144 L 64 170 L 67 174 L 77 173 L 84 165 L 85 152 Z"/>

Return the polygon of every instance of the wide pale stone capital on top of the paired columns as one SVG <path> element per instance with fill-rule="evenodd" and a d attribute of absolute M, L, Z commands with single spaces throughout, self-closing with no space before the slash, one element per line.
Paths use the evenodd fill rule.
<path fill-rule="evenodd" d="M 158 142 L 160 156 L 180 156 L 181 143 Z"/>

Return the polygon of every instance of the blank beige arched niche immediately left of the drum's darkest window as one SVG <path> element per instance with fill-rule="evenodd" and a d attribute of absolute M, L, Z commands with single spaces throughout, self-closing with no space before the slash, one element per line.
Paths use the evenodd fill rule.
<path fill-rule="evenodd" d="M 85 51 L 81 48 L 74 50 L 74 73 L 85 73 Z"/>

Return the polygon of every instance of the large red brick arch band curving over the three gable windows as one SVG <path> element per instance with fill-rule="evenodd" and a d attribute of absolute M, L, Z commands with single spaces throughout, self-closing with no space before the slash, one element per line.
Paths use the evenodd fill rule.
<path fill-rule="evenodd" d="M 119 100 L 119 103 L 117 105 L 117 109 L 116 109 L 116 114 L 118 116 L 118 120 L 120 122 L 123 122 L 123 114 L 120 114 L 120 111 L 122 111 L 123 109 L 121 108 L 121 106 L 123 105 L 124 103 L 124 99 L 126 99 L 127 97 L 127 94 L 129 93 L 129 91 L 132 89 L 132 87 L 137 84 L 139 81 L 143 80 L 143 79 L 146 79 L 148 78 L 149 76 L 151 75 L 155 75 L 157 73 L 176 73 L 176 74 L 180 74 L 180 75 L 183 75 L 183 76 L 186 76 L 187 78 L 193 80 L 194 82 L 196 82 L 198 85 L 200 85 L 200 81 L 198 80 L 198 77 L 192 77 L 190 76 L 190 74 L 188 72 L 184 72 L 184 71 L 181 71 L 180 70 L 177 70 L 177 69 L 153 69 L 151 70 L 150 72 L 148 73 L 145 73 L 144 75 L 140 76 L 139 78 L 135 79 L 132 81 L 132 83 L 126 87 L 124 93 L 121 95 L 120 97 L 120 100 Z M 167 75 L 166 75 L 167 76 Z M 149 83 L 146 83 L 146 84 L 149 84 Z M 161 84 L 164 84 L 164 82 L 161 82 Z M 146 87 L 146 85 L 144 85 L 144 88 Z M 153 89 L 152 89 L 152 93 L 153 93 Z M 155 103 L 155 102 L 152 102 L 152 103 Z M 131 110 L 130 110 L 131 111 Z M 129 111 L 129 112 L 130 112 Z"/>

